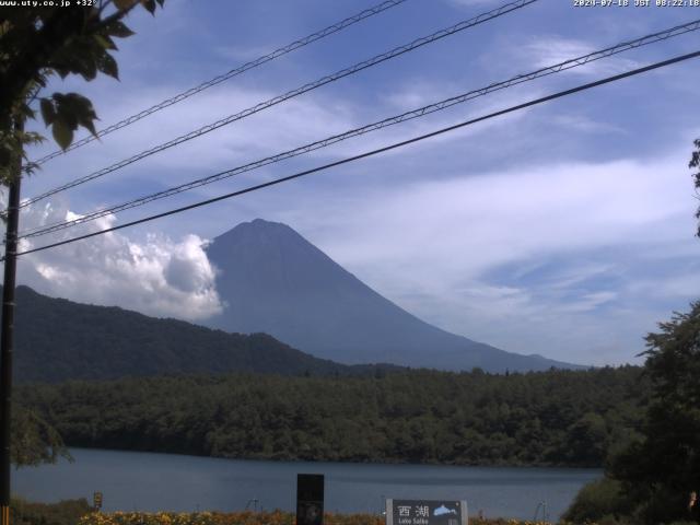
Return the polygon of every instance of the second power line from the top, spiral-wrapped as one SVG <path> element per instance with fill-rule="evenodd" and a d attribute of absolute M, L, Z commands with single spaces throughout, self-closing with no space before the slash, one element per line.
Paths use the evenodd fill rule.
<path fill-rule="evenodd" d="M 538 0 L 516 0 L 515 2 L 511 2 L 511 3 L 506 3 L 500 8 L 493 9 L 491 11 L 488 11 L 486 13 L 479 14 L 478 16 L 475 16 L 472 19 L 459 22 L 458 24 L 455 24 L 451 27 L 444 28 L 444 30 L 440 30 L 429 36 L 424 36 L 421 38 L 417 38 L 416 40 L 396 47 L 394 49 L 392 49 L 390 51 L 386 51 L 383 52 L 381 55 L 376 55 L 373 58 L 370 58 L 368 60 L 364 60 L 362 62 L 355 63 L 354 66 L 350 66 L 349 68 L 342 69 L 340 71 L 337 71 L 332 74 L 329 74 L 327 77 L 323 77 L 314 82 L 310 82 L 307 84 L 302 85 L 301 88 L 296 88 L 292 91 L 287 92 L 283 95 L 279 95 L 276 96 L 273 98 L 270 98 L 266 102 L 261 102 L 255 106 L 252 106 L 247 109 L 244 109 L 240 113 L 236 113 L 234 115 L 230 115 L 228 117 L 224 117 L 220 120 L 217 120 L 215 122 L 209 124 L 207 126 L 203 126 L 195 131 L 190 131 L 189 133 L 183 135 L 180 137 L 177 137 L 173 140 L 170 140 L 167 142 L 164 142 L 162 144 L 159 144 L 154 148 L 151 148 L 149 150 L 142 151 L 141 153 L 138 153 L 133 156 L 130 156 L 128 159 L 125 159 L 122 161 L 119 161 L 110 166 L 107 166 L 105 168 L 98 170 L 96 172 L 93 172 L 89 175 L 85 175 L 83 177 L 77 178 L 70 183 L 63 184 L 62 186 L 58 186 L 54 189 L 50 189 L 44 194 L 40 194 L 37 197 L 33 197 L 30 198 L 27 200 L 24 200 L 21 205 L 22 208 L 25 208 L 34 202 L 37 202 L 39 200 L 46 199 L 47 197 L 50 197 L 52 195 L 56 195 L 60 191 L 65 191 L 67 189 L 73 188 L 75 186 L 79 186 L 81 184 L 88 183 L 90 180 L 93 180 L 95 178 L 102 177 L 108 173 L 115 172 L 117 170 L 120 170 L 125 166 L 128 166 L 129 164 L 132 164 L 137 161 L 140 161 L 142 159 L 145 159 L 147 156 L 153 155 L 155 153 L 159 153 L 163 150 L 167 150 L 168 148 L 173 148 L 175 145 L 179 145 L 183 142 L 187 142 L 189 140 L 192 140 L 197 137 L 200 137 L 202 135 L 206 135 L 210 131 L 213 131 L 214 129 L 219 129 L 223 126 L 226 126 L 229 124 L 232 124 L 236 120 L 241 120 L 243 118 L 249 117 L 250 115 L 254 115 L 258 112 L 261 112 L 264 109 L 267 109 L 268 107 L 275 106 L 277 104 L 280 104 L 284 101 L 288 101 L 290 98 L 293 98 L 295 96 L 299 96 L 303 93 L 310 92 L 312 90 L 315 90 L 317 88 L 320 88 L 322 85 L 328 84 L 330 82 L 335 82 L 336 80 L 342 79 L 343 77 L 348 77 L 350 74 L 354 74 L 359 71 L 362 71 L 364 69 L 368 69 L 372 66 L 376 66 L 377 63 L 384 62 L 386 60 L 389 60 L 392 58 L 398 57 L 400 55 L 404 55 L 405 52 L 409 52 L 412 51 L 413 49 L 417 49 L 419 47 L 422 47 L 427 44 L 431 44 L 435 40 L 439 40 L 441 38 L 444 38 L 446 36 L 453 35 L 455 33 L 458 33 L 460 31 L 467 30 L 469 27 L 474 27 L 476 25 L 482 24 L 485 22 L 488 22 L 490 20 L 497 19 L 499 16 L 502 16 L 506 13 L 510 13 L 511 11 L 515 11 L 517 9 L 522 9 L 530 3 L 534 3 Z"/>

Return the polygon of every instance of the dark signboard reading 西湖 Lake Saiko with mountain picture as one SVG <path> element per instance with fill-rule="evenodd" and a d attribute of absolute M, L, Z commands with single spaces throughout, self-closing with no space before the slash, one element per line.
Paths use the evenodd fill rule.
<path fill-rule="evenodd" d="M 386 500 L 386 525 L 468 525 L 466 501 Z"/>

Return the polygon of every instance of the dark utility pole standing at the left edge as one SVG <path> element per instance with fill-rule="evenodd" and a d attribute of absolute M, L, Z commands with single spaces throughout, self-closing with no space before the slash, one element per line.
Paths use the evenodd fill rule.
<path fill-rule="evenodd" d="M 15 122 L 24 131 L 22 117 Z M 21 139 L 18 139 L 21 140 Z M 9 182 L 8 218 L 4 235 L 4 280 L 2 285 L 2 334 L 0 335 L 0 525 L 10 525 L 10 436 L 12 416 L 12 336 L 14 331 L 14 284 L 16 276 L 18 230 L 20 224 L 20 187 L 22 183 L 22 145 L 14 160 Z"/>

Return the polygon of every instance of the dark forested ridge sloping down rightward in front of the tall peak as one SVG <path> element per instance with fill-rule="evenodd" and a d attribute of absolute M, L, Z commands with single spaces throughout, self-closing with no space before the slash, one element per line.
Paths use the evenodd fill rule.
<path fill-rule="evenodd" d="M 350 374 L 265 334 L 226 334 L 118 307 L 51 299 L 16 290 L 14 377 L 22 381 L 104 380 L 230 371 L 298 375 Z"/>

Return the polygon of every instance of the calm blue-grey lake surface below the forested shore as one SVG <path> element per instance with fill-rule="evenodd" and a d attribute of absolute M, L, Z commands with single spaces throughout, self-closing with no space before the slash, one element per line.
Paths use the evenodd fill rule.
<path fill-rule="evenodd" d="M 326 476 L 326 510 L 380 513 L 384 498 L 466 500 L 469 514 L 532 520 L 539 502 L 557 520 L 597 469 L 500 468 L 233 460 L 71 448 L 75 463 L 13 470 L 12 492 L 34 501 L 92 501 L 104 510 L 293 511 L 296 474 Z M 541 517 L 541 511 L 540 511 Z"/>

